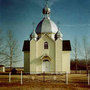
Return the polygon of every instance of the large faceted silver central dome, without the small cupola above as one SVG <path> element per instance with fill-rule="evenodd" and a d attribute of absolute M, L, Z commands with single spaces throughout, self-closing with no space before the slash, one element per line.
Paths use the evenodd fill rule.
<path fill-rule="evenodd" d="M 36 33 L 57 33 L 56 24 L 49 17 L 44 18 L 36 27 Z"/>

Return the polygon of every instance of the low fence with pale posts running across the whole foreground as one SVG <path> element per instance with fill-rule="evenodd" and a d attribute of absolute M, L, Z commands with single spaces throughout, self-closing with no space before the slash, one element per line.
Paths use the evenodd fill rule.
<path fill-rule="evenodd" d="M 11 72 L 7 75 L 0 75 L 2 81 L 9 83 L 29 84 L 31 82 L 47 82 L 47 83 L 84 83 L 90 85 L 90 73 L 87 74 L 68 74 L 65 72 L 48 73 L 48 74 L 30 74 L 30 73 L 17 73 L 12 75 Z M 7 78 L 6 78 L 7 76 Z"/>

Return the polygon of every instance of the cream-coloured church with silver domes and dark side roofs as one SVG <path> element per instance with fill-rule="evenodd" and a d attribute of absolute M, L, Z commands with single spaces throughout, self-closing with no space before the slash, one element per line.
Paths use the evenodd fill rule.
<path fill-rule="evenodd" d="M 70 73 L 70 40 L 63 40 L 62 33 L 50 19 L 48 4 L 43 8 L 44 18 L 25 40 L 24 72 L 38 73 Z"/>

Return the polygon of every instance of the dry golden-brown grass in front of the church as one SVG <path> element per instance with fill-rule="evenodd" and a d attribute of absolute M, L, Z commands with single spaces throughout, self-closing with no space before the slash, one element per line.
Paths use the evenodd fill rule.
<path fill-rule="evenodd" d="M 0 90 L 90 90 L 86 74 L 70 74 L 69 84 L 65 83 L 65 76 L 35 76 L 23 75 L 23 84 L 20 84 L 20 75 L 12 75 L 11 83 L 8 81 L 8 75 L 0 75 Z M 32 80 L 33 79 L 33 80 Z"/>

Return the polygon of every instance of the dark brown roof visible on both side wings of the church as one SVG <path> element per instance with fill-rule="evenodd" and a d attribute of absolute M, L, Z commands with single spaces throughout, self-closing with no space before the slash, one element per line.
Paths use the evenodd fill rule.
<path fill-rule="evenodd" d="M 70 44 L 70 40 L 63 40 L 62 43 L 63 47 L 63 51 L 71 51 L 71 44 Z M 24 45 L 23 45 L 23 50 L 22 51 L 30 51 L 30 41 L 29 40 L 25 40 L 24 41 Z"/>

